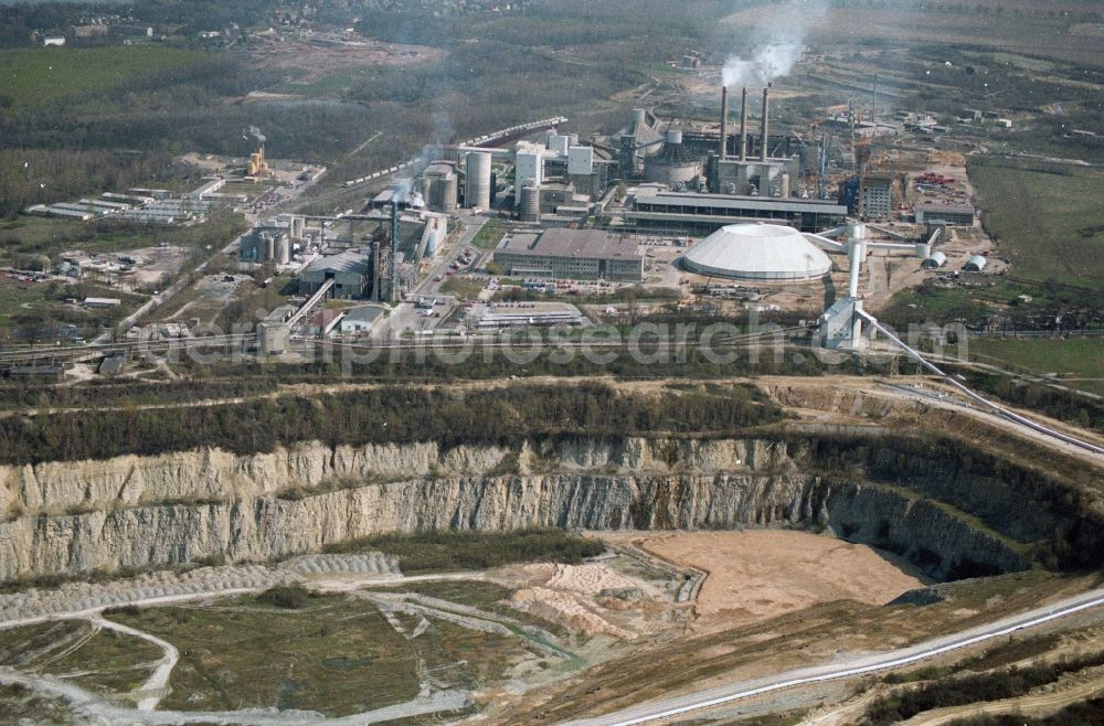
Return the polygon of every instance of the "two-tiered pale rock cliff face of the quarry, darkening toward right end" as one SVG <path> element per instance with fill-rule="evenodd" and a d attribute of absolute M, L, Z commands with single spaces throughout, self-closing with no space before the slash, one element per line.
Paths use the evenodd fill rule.
<path fill-rule="evenodd" d="M 565 438 L 440 450 L 310 444 L 0 468 L 0 579 L 316 552 L 380 532 L 732 529 L 827 531 L 936 577 L 1028 566 L 1002 536 L 900 487 L 800 473 L 802 445 Z M 340 479 L 337 491 L 310 493 Z M 357 481 L 369 481 L 353 485 Z M 306 495 L 277 494 L 299 487 Z"/>

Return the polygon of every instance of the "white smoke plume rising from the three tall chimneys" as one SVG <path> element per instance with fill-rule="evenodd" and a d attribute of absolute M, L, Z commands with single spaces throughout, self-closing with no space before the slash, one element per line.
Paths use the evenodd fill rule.
<path fill-rule="evenodd" d="M 765 86 L 789 74 L 802 58 L 813 24 L 824 18 L 828 0 L 785 0 L 762 12 L 750 31 L 753 39 L 743 51 L 732 53 L 721 71 L 725 86 Z"/>

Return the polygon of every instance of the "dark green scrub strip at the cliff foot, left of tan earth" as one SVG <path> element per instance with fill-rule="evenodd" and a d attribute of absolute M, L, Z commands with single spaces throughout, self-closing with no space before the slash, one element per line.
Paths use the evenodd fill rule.
<path fill-rule="evenodd" d="M 580 563 L 605 552 L 597 540 L 584 540 L 562 530 L 520 532 L 437 531 L 383 534 L 330 545 L 326 552 L 380 551 L 399 557 L 406 574 L 489 569 L 519 562 Z"/>

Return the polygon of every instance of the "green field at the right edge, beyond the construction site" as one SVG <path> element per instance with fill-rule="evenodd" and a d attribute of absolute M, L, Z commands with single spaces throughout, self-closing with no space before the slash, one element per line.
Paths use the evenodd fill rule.
<path fill-rule="evenodd" d="M 1013 275 L 1104 289 L 1104 172 L 984 157 L 968 172 Z"/>

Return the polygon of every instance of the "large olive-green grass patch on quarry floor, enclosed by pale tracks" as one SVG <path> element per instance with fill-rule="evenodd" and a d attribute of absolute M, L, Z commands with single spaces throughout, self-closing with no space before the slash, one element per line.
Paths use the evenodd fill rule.
<path fill-rule="evenodd" d="M 481 604 L 502 595 L 484 585 L 437 596 Z M 413 698 L 422 672 L 432 673 L 438 687 L 477 690 L 501 683 L 530 656 L 519 639 L 432 618 L 427 630 L 407 640 L 371 602 L 294 587 L 209 606 L 127 608 L 110 618 L 180 649 L 162 707 L 182 711 L 276 707 L 348 715 Z M 407 632 L 421 621 L 402 612 L 395 618 Z"/>

